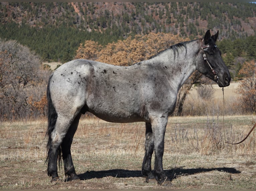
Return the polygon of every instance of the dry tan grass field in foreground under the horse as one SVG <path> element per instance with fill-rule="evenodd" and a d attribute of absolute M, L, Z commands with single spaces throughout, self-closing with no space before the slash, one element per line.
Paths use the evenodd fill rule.
<path fill-rule="evenodd" d="M 226 137 L 244 138 L 256 116 L 225 116 Z M 165 189 L 141 177 L 144 123 L 80 121 L 72 154 L 81 180 L 50 183 L 46 119 L 0 124 L 1 189 Z M 221 117 L 170 117 L 163 166 L 177 189 L 255 189 L 256 131 L 239 145 L 224 143 Z M 152 162 L 153 164 L 153 162 Z"/>

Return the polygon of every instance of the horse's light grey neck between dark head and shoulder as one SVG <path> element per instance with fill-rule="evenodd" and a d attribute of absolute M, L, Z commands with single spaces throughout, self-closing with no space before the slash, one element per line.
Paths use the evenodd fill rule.
<path fill-rule="evenodd" d="M 201 49 L 200 42 L 200 40 L 187 42 L 187 52 L 184 47 L 181 47 L 178 49 L 178 52 L 176 51 L 175 58 L 171 49 L 163 52 L 156 58 L 159 64 L 168 67 L 166 69 L 168 71 L 167 78 L 177 92 L 189 76 L 197 70 L 196 62 L 200 60 L 200 55 L 198 55 L 198 51 Z"/>

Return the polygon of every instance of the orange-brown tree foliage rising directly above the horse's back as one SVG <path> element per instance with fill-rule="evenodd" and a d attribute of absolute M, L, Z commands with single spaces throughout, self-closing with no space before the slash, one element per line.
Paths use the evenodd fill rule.
<path fill-rule="evenodd" d="M 173 44 L 187 40 L 189 39 L 170 33 L 149 33 L 145 36 L 136 35 L 134 38 L 128 37 L 123 41 L 109 43 L 106 47 L 102 47 L 97 42 L 86 41 L 80 44 L 75 58 L 129 66 L 147 60 Z"/>

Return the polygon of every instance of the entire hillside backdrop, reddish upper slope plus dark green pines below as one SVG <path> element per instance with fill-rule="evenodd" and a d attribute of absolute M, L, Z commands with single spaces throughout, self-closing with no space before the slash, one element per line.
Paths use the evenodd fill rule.
<path fill-rule="evenodd" d="M 211 29 L 233 41 L 256 31 L 256 5 L 242 2 L 1 2 L 0 10 L 0 38 L 17 40 L 46 61 L 72 59 L 89 39 L 106 45 L 149 32 L 194 39 Z"/>

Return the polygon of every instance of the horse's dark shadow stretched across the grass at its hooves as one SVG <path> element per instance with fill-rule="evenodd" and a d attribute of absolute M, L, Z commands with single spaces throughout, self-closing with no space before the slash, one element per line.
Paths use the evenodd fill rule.
<path fill-rule="evenodd" d="M 210 172 L 210 171 L 221 171 L 228 172 L 231 174 L 239 174 L 240 171 L 235 168 L 188 168 L 184 169 L 183 167 L 174 168 L 170 170 L 165 170 L 166 175 L 171 179 L 175 179 L 180 175 L 192 175 L 201 172 Z M 79 174 L 80 180 L 88 180 L 93 178 L 103 178 L 107 176 L 117 177 L 117 178 L 129 178 L 129 177 L 142 177 L 140 170 L 124 170 L 124 169 L 112 169 L 112 170 L 101 170 L 101 171 L 87 171 L 83 174 Z"/>

